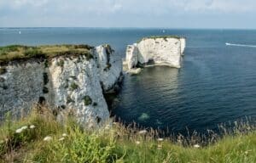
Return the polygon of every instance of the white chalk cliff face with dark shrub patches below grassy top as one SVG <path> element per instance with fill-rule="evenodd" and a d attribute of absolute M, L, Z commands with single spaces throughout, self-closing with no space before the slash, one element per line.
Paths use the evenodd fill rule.
<path fill-rule="evenodd" d="M 91 55 L 27 59 L 0 67 L 0 110 L 28 109 L 37 102 L 55 106 L 61 113 L 73 110 L 84 125 L 107 121 L 103 92 L 118 81 L 121 60 L 108 45 L 91 49 Z M 2 114 L 0 112 L 0 114 Z"/>

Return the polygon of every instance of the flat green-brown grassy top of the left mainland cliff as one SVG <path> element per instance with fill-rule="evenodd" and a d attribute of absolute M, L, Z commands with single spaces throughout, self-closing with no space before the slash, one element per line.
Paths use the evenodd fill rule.
<path fill-rule="evenodd" d="M 13 60 L 30 58 L 53 58 L 61 55 L 80 55 L 90 53 L 89 45 L 9 45 L 0 47 L 0 64 Z"/>

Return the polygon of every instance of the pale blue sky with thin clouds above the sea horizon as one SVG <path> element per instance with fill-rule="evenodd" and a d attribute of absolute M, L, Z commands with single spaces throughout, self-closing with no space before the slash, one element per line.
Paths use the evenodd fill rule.
<path fill-rule="evenodd" d="M 256 29 L 256 1 L 0 0 L 0 27 Z"/>

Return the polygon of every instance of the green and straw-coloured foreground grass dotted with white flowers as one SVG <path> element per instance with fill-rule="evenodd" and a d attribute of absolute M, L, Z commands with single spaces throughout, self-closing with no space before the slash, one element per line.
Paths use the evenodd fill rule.
<path fill-rule="evenodd" d="M 247 124 L 215 143 L 201 147 L 191 140 L 184 147 L 183 140 L 157 138 L 153 131 L 119 123 L 84 130 L 72 118 L 60 124 L 40 112 L 7 118 L 0 127 L 0 162 L 256 162 L 255 127 Z"/>

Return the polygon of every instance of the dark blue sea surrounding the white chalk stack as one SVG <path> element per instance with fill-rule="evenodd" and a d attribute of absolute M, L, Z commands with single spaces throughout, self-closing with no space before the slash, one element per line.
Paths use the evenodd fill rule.
<path fill-rule="evenodd" d="M 21 34 L 19 34 L 21 31 Z M 127 44 L 152 35 L 187 37 L 183 67 L 150 67 L 125 76 L 113 115 L 142 126 L 203 132 L 219 123 L 256 118 L 256 31 L 165 29 L 0 29 L 0 45 L 110 43 L 125 57 Z"/>

